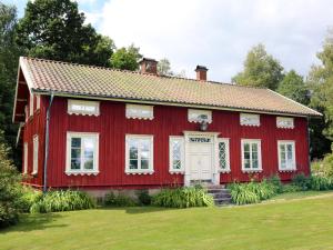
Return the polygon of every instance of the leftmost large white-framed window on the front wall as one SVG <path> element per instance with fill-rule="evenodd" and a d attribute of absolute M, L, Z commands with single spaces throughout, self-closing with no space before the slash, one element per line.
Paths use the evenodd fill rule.
<path fill-rule="evenodd" d="M 99 134 L 67 133 L 67 174 L 99 173 Z"/>

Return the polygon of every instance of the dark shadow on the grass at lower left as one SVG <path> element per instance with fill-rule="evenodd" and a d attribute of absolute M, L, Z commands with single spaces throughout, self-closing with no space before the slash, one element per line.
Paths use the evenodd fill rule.
<path fill-rule="evenodd" d="M 68 224 L 52 223 L 61 218 L 60 213 L 36 213 L 36 214 L 21 214 L 17 224 L 0 230 L 0 234 L 8 232 L 28 232 L 34 230 L 43 230 L 48 228 L 63 228 Z"/>

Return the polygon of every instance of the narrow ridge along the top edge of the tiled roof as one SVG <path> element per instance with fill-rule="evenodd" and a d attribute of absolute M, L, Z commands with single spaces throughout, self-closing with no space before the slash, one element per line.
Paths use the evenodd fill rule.
<path fill-rule="evenodd" d="M 212 84 L 225 84 L 230 87 L 240 87 L 240 88 L 249 88 L 249 89 L 268 89 L 263 87 L 251 87 L 251 86 L 239 86 L 234 84 L 232 82 L 221 82 L 221 81 L 202 81 L 193 78 L 186 78 L 186 77 L 178 77 L 178 76 L 164 76 L 164 74 L 153 74 L 153 73 L 141 73 L 140 71 L 132 71 L 132 70 L 122 70 L 122 69 L 114 69 L 114 68 L 108 68 L 102 66 L 92 66 L 92 64 L 82 64 L 77 62 L 69 62 L 69 61 L 59 61 L 59 60 L 51 60 L 51 59 L 43 59 L 43 58 L 32 58 L 32 57 L 22 57 L 28 60 L 36 60 L 36 61 L 46 61 L 46 62 L 52 62 L 52 63 L 60 63 L 60 64 L 70 64 L 70 66 L 78 66 L 78 67 L 85 67 L 91 69 L 102 69 L 102 70 L 110 70 L 110 71 L 118 71 L 118 72 L 125 72 L 125 73 L 135 73 L 140 76 L 152 76 L 152 77 L 159 77 L 159 78 L 169 78 L 169 79 L 180 79 L 180 80 L 188 80 L 188 81 L 196 81 L 201 83 L 212 83 Z"/>

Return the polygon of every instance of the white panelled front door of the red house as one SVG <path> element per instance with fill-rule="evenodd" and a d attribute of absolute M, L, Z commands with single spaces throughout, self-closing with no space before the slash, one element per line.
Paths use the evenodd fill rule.
<path fill-rule="evenodd" d="M 212 180 L 212 144 L 190 143 L 191 180 Z"/>

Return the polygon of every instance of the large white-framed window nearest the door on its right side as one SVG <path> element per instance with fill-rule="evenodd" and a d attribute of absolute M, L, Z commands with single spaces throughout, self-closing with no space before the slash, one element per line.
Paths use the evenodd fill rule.
<path fill-rule="evenodd" d="M 242 140 L 242 170 L 261 171 L 261 141 L 260 140 Z"/>

